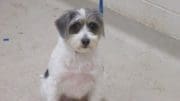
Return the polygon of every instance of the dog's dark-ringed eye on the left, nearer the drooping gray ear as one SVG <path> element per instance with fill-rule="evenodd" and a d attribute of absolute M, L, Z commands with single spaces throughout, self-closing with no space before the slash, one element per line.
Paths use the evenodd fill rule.
<path fill-rule="evenodd" d="M 70 31 L 71 34 L 76 34 L 76 33 L 78 33 L 80 31 L 80 29 L 81 29 L 81 23 L 76 22 L 76 23 L 74 23 L 74 24 L 72 24 L 70 26 L 69 31 Z"/>

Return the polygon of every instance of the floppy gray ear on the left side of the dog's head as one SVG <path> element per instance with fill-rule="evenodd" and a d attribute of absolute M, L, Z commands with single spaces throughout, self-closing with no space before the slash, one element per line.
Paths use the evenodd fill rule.
<path fill-rule="evenodd" d="M 66 11 L 59 19 L 55 21 L 56 28 L 58 29 L 61 37 L 67 36 L 68 25 L 70 21 L 77 15 L 77 11 L 70 10 Z"/>

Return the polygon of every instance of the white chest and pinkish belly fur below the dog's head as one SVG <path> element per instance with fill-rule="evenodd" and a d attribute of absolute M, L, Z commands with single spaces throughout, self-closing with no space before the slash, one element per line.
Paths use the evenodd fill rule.
<path fill-rule="evenodd" d="M 52 54 L 49 70 L 60 93 L 82 97 L 93 90 L 103 66 L 97 59 L 96 52 L 75 53 L 60 41 Z"/>

